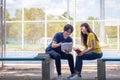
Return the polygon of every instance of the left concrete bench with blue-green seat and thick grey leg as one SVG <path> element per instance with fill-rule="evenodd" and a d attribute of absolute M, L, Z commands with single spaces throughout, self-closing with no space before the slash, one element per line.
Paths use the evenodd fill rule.
<path fill-rule="evenodd" d="M 35 58 L 0 58 L 0 61 L 42 61 L 42 80 L 54 77 L 54 62 L 48 54 L 39 54 Z"/>

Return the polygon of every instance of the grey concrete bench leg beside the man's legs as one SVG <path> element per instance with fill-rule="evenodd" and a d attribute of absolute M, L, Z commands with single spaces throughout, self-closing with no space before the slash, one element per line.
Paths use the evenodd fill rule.
<path fill-rule="evenodd" d="M 46 59 L 42 61 L 42 80 L 50 80 L 54 77 L 54 61 Z"/>

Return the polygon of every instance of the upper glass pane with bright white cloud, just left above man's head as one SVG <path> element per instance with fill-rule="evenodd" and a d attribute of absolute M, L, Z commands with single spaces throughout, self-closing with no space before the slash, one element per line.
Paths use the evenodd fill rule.
<path fill-rule="evenodd" d="M 67 0 L 52 0 L 46 5 L 48 20 L 67 20 Z"/>

